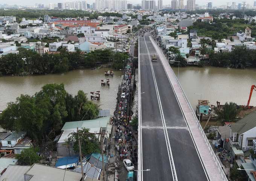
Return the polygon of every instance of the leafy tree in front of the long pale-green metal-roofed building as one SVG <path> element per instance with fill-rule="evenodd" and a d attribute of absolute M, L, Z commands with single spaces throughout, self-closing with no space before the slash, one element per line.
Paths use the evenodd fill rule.
<path fill-rule="evenodd" d="M 81 143 L 81 152 L 82 155 L 88 155 L 91 153 L 99 153 L 99 140 L 95 134 L 84 134 L 89 133 L 90 129 L 82 128 L 79 130 L 79 137 Z M 66 143 L 70 145 L 73 143 L 73 149 L 76 153 L 79 153 L 79 144 L 78 144 L 78 134 L 72 132 L 69 134 L 69 138 L 66 140 Z"/>

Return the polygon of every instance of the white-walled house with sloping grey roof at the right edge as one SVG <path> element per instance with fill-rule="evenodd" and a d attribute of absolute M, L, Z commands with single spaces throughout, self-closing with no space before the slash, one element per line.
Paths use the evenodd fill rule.
<path fill-rule="evenodd" d="M 236 159 L 237 151 L 253 149 L 253 140 L 256 139 L 256 111 L 231 124 L 230 128 L 228 149 Z"/>

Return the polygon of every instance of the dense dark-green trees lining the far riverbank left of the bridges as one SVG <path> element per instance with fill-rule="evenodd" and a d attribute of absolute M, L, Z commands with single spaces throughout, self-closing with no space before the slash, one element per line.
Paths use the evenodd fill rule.
<path fill-rule="evenodd" d="M 111 63 L 113 69 L 123 68 L 127 53 L 114 52 L 111 49 L 95 50 L 82 56 L 80 50 L 67 52 L 59 49 L 59 54 L 40 55 L 37 52 L 18 48 L 18 54 L 9 53 L 0 58 L 0 75 L 24 76 L 29 74 L 62 73 L 79 68 L 79 65 L 95 67 L 98 64 Z"/>

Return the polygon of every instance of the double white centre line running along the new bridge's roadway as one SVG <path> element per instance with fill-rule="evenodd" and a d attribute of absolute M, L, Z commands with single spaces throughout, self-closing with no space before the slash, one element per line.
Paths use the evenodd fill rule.
<path fill-rule="evenodd" d="M 145 41 L 145 37 L 144 37 L 144 41 Z M 157 82 L 156 82 L 156 79 L 155 79 L 155 73 L 154 73 L 153 65 L 152 65 L 152 62 L 151 62 L 150 55 L 149 55 L 148 46 L 147 46 L 146 43 L 145 43 L 145 45 L 146 45 L 146 49 L 148 51 L 148 58 L 149 58 L 149 62 L 150 62 L 150 67 L 151 67 L 153 79 L 154 79 L 155 91 L 157 93 L 157 100 L 158 100 L 158 105 L 159 105 L 159 109 L 160 109 L 160 113 L 161 113 L 161 119 L 162 119 L 163 127 L 166 127 L 165 117 L 163 115 L 163 109 L 162 109 L 162 104 L 161 104 L 161 100 L 160 100 L 160 96 L 159 96 L 159 91 L 158 91 L 158 88 L 157 88 Z M 173 162 L 171 145 L 170 145 L 170 142 L 169 142 L 167 129 L 164 129 L 164 132 L 165 132 L 165 141 L 166 141 L 167 150 L 169 150 L 168 155 L 169 155 L 169 161 L 170 161 L 171 170 L 172 170 L 172 178 L 173 178 L 174 181 L 178 181 L 175 166 L 174 166 L 174 162 Z"/>

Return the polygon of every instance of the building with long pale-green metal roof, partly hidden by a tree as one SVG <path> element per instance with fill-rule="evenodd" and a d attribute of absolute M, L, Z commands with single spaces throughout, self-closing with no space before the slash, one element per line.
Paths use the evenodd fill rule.
<path fill-rule="evenodd" d="M 61 129 L 61 135 L 57 141 L 57 154 L 59 157 L 73 156 L 74 150 L 73 145 L 69 147 L 66 144 L 66 140 L 69 138 L 69 134 L 77 131 L 77 127 L 89 128 L 91 133 L 100 132 L 100 129 L 107 129 L 109 126 L 108 122 L 110 120 L 109 116 L 97 118 L 94 120 L 84 120 L 76 122 L 66 122 Z M 111 131 L 110 131 L 111 132 Z"/>

